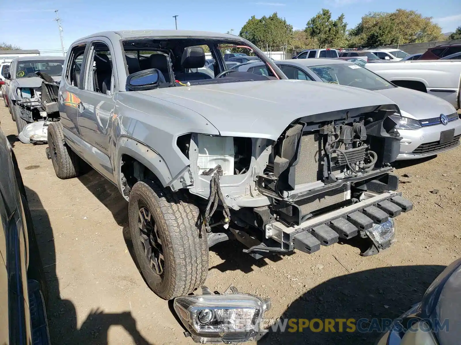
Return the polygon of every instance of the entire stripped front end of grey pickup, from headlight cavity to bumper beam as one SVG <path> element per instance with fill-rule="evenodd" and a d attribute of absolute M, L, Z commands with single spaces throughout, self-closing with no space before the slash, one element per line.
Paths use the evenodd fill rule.
<path fill-rule="evenodd" d="M 260 149 L 260 157 L 267 153 L 262 173 L 257 173 L 252 166 L 254 161 L 242 160 L 249 154 L 249 143 L 242 138 L 192 135 L 191 144 L 195 143 L 198 151 L 198 180 L 213 175 L 210 200 L 218 201 L 222 197 L 218 192 L 213 194 L 216 189 L 222 189 L 221 195 L 226 195 L 228 200 L 236 200 L 227 194 L 231 189 L 226 182 L 231 178 L 236 181 L 235 175 L 243 179 L 244 175 L 254 174 L 257 192 L 250 190 L 249 194 L 255 198 L 265 196 L 270 202 L 253 209 L 232 207 L 229 211 L 225 207 L 223 210 L 225 221 L 221 220 L 220 224 L 227 224 L 231 219 L 231 230 L 237 239 L 248 230 L 262 230 L 260 240 L 257 231 L 250 236 L 253 237 L 250 242 L 243 240 L 245 236 L 240 238 L 250 247 L 248 253 L 258 252 L 254 255 L 258 257 L 261 251 L 285 252 L 293 248 L 311 253 L 320 245 L 337 242 L 339 237 L 349 239 L 360 233 L 364 238 L 371 238 L 373 235 L 366 231 L 381 223 L 393 222 L 391 219 L 400 212 L 411 210 L 412 203 L 396 193 L 398 177 L 391 173 L 390 162 L 396 159 L 401 140 L 395 121 L 388 116 L 395 114 L 395 110 L 353 110 L 356 115 L 350 115 L 353 111 L 319 114 L 291 123 L 276 142 L 264 151 Z M 329 117 L 340 119 L 328 120 Z M 253 158 L 258 152 L 255 145 L 264 148 L 253 139 Z M 215 175 L 220 175 L 219 183 Z M 222 198 L 220 201 L 225 205 L 226 200 Z M 217 224 L 216 215 L 208 219 L 216 209 L 213 207 L 209 212 L 211 203 L 205 213 L 208 230 L 213 227 L 208 224 Z M 330 219 L 335 213 L 337 219 Z M 303 236 L 298 245 L 296 236 Z M 373 243 L 370 253 L 377 253 L 379 245 Z M 388 246 L 389 241 L 380 249 Z M 266 247 L 270 248 L 266 250 Z M 306 247 L 308 249 L 302 249 Z"/>

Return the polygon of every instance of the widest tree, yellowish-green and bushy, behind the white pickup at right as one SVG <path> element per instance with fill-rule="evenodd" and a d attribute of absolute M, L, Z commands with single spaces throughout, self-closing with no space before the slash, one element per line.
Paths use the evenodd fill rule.
<path fill-rule="evenodd" d="M 442 40 L 442 29 L 416 11 L 370 12 L 349 30 L 349 46 L 386 46 Z"/>

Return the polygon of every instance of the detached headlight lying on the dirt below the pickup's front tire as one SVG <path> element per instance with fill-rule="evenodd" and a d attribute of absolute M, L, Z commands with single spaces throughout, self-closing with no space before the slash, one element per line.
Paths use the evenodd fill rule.
<path fill-rule="evenodd" d="M 177 297 L 174 310 L 195 342 L 231 344 L 260 339 L 260 326 L 270 302 L 243 294 Z"/>

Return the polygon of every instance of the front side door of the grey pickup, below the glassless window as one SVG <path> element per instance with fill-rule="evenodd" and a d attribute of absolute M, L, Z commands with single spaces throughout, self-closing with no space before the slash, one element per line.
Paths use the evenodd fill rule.
<path fill-rule="evenodd" d="M 113 56 L 109 40 L 100 38 L 91 43 L 77 106 L 80 133 L 94 153 L 89 155 L 89 159 L 94 160 L 89 163 L 110 180 L 113 172 L 109 159 L 109 137 L 117 98 L 117 71 Z"/>

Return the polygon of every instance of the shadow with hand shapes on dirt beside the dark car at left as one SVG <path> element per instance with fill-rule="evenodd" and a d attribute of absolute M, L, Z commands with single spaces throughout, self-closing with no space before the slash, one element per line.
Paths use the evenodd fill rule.
<path fill-rule="evenodd" d="M 47 279 L 47 317 L 52 344 L 108 345 L 109 327 L 120 325 L 130 334 L 135 344 L 148 345 L 148 341 L 142 337 L 136 328 L 136 320 L 129 311 L 106 313 L 95 307 L 89 312 L 82 326 L 77 328 L 75 306 L 70 300 L 61 297 L 60 291 L 64 290 L 66 286 L 61 286 L 60 278 L 56 274 L 54 234 L 47 211 L 43 208 L 35 191 L 28 187 L 25 188 Z"/>

